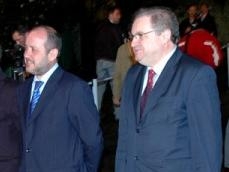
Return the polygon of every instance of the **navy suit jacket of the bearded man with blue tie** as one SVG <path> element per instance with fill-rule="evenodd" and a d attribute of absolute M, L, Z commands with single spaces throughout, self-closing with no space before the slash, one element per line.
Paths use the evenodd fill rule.
<path fill-rule="evenodd" d="M 21 171 L 97 171 L 102 134 L 91 88 L 58 68 L 26 120 L 32 81 L 27 80 L 19 89 L 23 115 Z"/>

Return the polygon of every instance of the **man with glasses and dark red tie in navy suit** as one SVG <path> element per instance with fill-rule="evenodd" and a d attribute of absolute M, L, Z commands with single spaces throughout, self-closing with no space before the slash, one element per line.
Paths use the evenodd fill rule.
<path fill-rule="evenodd" d="M 124 82 L 116 172 L 220 172 L 215 73 L 177 48 L 178 26 L 167 8 L 135 14 L 131 45 L 140 64 Z"/>

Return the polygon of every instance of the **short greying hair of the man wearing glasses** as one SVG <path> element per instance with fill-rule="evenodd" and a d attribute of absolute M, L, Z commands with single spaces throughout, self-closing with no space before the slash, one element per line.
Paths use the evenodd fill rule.
<path fill-rule="evenodd" d="M 164 30 L 169 29 L 171 31 L 171 41 L 177 43 L 179 39 L 179 22 L 170 8 L 161 6 L 140 8 L 134 14 L 133 21 L 143 16 L 151 18 L 151 24 L 156 33 L 160 34 Z"/>

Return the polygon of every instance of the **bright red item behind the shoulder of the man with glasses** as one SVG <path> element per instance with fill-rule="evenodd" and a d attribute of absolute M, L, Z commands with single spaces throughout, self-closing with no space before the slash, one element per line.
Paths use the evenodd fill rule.
<path fill-rule="evenodd" d="M 218 67 L 223 59 L 220 42 L 204 29 L 196 29 L 183 36 L 178 46 L 183 52 L 213 68 Z"/>

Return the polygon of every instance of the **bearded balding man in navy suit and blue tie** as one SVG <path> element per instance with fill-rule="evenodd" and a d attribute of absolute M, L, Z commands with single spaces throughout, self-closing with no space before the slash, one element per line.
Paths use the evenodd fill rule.
<path fill-rule="evenodd" d="M 26 35 L 26 71 L 34 77 L 19 89 L 21 172 L 96 172 L 99 165 L 102 133 L 91 88 L 58 66 L 60 50 L 52 27 L 37 26 Z"/>

